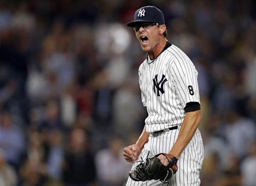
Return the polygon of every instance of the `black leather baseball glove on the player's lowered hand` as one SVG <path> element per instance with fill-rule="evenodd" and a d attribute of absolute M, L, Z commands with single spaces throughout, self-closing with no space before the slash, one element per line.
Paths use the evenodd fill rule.
<path fill-rule="evenodd" d="M 169 160 L 169 165 L 164 166 L 160 159 L 157 158 L 159 155 L 164 155 Z M 146 181 L 146 180 L 160 180 L 164 183 L 169 183 L 168 181 L 175 172 L 178 170 L 177 166 L 178 159 L 165 153 L 157 154 L 156 156 L 147 158 L 145 162 L 138 164 L 134 167 L 129 176 L 134 181 Z"/>

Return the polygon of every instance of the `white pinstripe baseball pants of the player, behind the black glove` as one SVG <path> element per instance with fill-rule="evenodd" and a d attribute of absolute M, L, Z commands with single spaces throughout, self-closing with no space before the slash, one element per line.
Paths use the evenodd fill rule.
<path fill-rule="evenodd" d="M 155 132 L 151 133 L 149 136 L 149 141 L 145 144 L 144 148 L 141 151 L 140 157 L 143 160 L 149 157 L 154 156 L 159 153 L 169 153 L 174 142 L 178 138 L 179 129 L 171 130 L 167 132 Z M 138 158 L 138 161 L 141 158 Z M 178 160 L 178 171 L 172 176 L 172 184 L 177 186 L 185 185 L 200 185 L 199 171 L 201 170 L 204 158 L 204 147 L 201 133 L 197 129 L 194 137 L 190 140 L 187 147 L 181 153 Z M 138 162 L 134 162 L 133 167 L 138 165 Z M 126 183 L 126 186 L 141 186 L 141 185 L 167 185 L 167 183 L 162 183 L 157 180 L 150 180 L 145 182 L 133 181 L 129 177 Z"/>

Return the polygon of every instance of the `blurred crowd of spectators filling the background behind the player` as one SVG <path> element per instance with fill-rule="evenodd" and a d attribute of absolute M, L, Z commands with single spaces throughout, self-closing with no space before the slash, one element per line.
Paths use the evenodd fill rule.
<path fill-rule="evenodd" d="M 201 185 L 256 185 L 256 3 L 0 1 L 0 185 L 121 186 L 147 116 L 125 23 L 155 5 L 198 70 Z"/>

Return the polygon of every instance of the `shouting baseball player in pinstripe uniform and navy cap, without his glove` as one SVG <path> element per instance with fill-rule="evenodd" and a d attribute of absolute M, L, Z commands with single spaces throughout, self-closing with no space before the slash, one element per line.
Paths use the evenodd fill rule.
<path fill-rule="evenodd" d="M 166 40 L 164 15 L 155 6 L 144 6 L 134 14 L 132 27 L 147 58 L 139 67 L 139 84 L 148 117 L 135 144 L 124 148 L 123 156 L 133 168 L 159 153 L 163 165 L 178 160 L 171 185 L 200 185 L 204 150 L 197 71 L 189 57 Z M 166 185 L 159 180 L 134 181 L 130 185 Z"/>

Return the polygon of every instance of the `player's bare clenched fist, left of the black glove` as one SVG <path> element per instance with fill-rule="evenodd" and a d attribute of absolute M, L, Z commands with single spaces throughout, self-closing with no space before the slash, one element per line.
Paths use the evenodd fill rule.
<path fill-rule="evenodd" d="M 140 149 L 136 144 L 124 148 L 123 156 L 127 162 L 135 162 L 140 155 Z"/>

